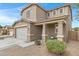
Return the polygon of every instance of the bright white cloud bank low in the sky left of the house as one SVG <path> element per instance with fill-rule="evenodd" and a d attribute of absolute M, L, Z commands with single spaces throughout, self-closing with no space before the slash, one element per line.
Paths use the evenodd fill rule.
<path fill-rule="evenodd" d="M 5 11 L 0 12 L 0 25 L 2 26 L 12 25 L 15 21 L 19 19 L 16 16 L 18 16 L 17 13 L 13 13 L 13 12 L 8 13 Z"/>

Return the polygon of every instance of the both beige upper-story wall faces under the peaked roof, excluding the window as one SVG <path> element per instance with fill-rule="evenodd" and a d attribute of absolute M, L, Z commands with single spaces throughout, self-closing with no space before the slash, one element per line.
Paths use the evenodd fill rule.
<path fill-rule="evenodd" d="M 26 17 L 26 13 L 27 13 L 28 10 L 31 11 L 30 18 Z M 33 22 L 42 21 L 42 20 L 46 19 L 46 12 L 43 11 L 38 6 L 33 5 L 33 6 L 29 7 L 28 9 L 23 11 L 22 18 L 24 18 L 26 20 L 33 21 Z"/>

